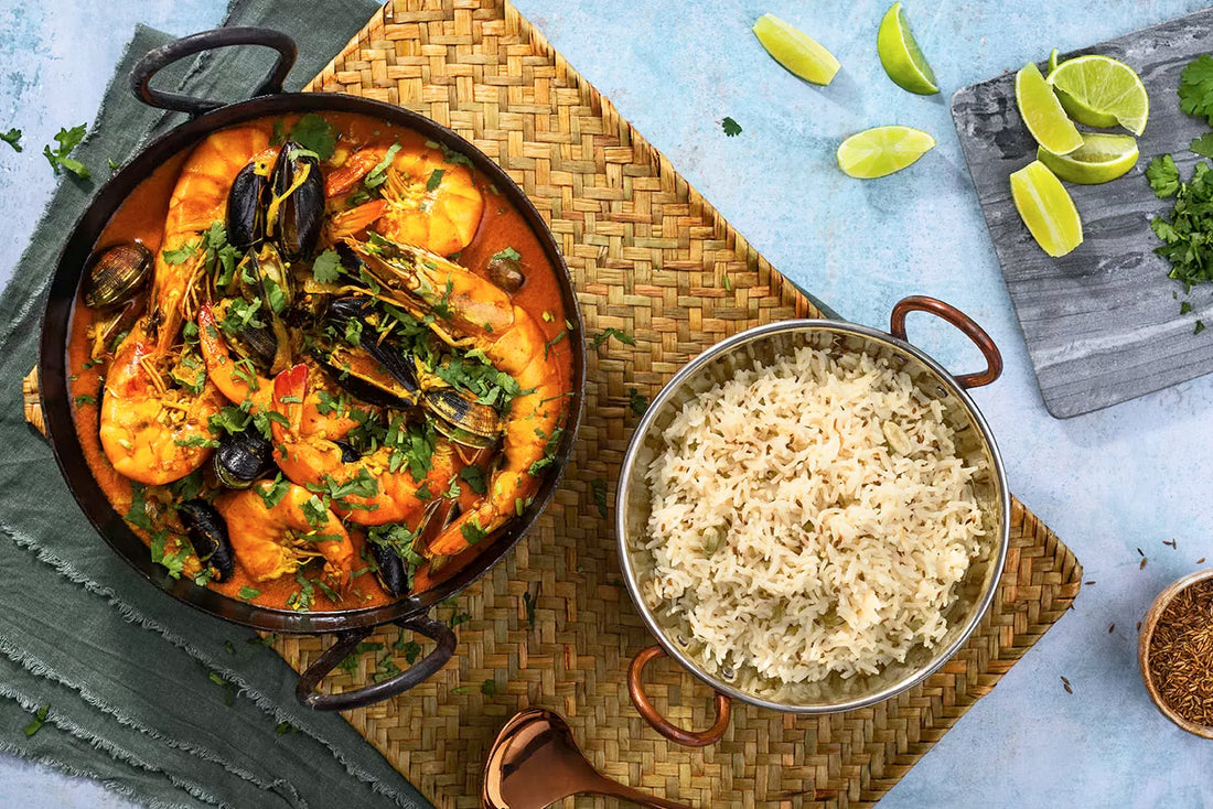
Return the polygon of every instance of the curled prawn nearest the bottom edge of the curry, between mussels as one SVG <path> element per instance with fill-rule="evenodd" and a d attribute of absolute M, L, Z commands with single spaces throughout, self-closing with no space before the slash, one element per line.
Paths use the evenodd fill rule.
<path fill-rule="evenodd" d="M 261 480 L 251 489 L 216 497 L 215 508 L 227 523 L 237 560 L 254 581 L 294 574 L 323 557 L 325 579 L 338 588 L 349 582 L 354 569 L 349 534 L 303 486 Z"/>

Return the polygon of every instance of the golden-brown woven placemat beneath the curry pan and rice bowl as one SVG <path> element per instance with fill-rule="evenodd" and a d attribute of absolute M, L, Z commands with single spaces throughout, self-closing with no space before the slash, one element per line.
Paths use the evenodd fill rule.
<path fill-rule="evenodd" d="M 636 341 L 591 348 L 585 421 L 554 503 L 512 554 L 439 611 L 459 622 L 456 661 L 402 697 L 348 714 L 438 805 L 479 805 L 489 745 L 508 717 L 533 705 L 562 712 L 606 774 L 670 798 L 702 807 L 870 805 L 1077 596 L 1077 559 L 1015 501 L 993 606 L 968 645 L 922 685 L 826 718 L 735 703 L 718 745 L 695 751 L 667 742 L 627 697 L 627 661 L 654 639 L 620 583 L 611 523 L 594 505 L 593 482 L 605 482 L 614 498 L 638 418 L 632 388 L 651 397 L 721 338 L 820 312 L 508 2 L 389 4 L 309 89 L 400 104 L 475 143 L 551 224 L 587 336 L 614 327 Z M 376 634 L 383 649 L 365 653 L 329 686 L 363 684 L 383 660 L 405 665 L 392 649 L 397 638 L 394 628 Z M 302 668 L 330 642 L 280 638 L 275 648 Z M 676 723 L 710 724 L 710 691 L 690 674 L 665 663 L 650 667 L 650 694 Z"/>

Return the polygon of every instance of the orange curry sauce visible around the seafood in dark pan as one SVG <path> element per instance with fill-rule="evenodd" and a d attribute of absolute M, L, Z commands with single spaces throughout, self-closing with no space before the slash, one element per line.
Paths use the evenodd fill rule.
<path fill-rule="evenodd" d="M 278 124 L 279 131 L 289 131 L 290 126 L 298 116 L 268 118 L 241 126 L 262 127 L 267 136 L 273 137 L 274 126 Z M 323 118 L 330 126 L 340 132 L 337 139 L 337 152 L 334 159 L 357 150 L 364 146 L 381 144 L 389 146 L 399 142 L 404 149 L 425 148 L 426 137 L 377 119 L 348 113 L 324 113 Z M 104 249 L 114 244 L 127 241 L 141 241 L 149 250 L 160 249 L 161 230 L 165 215 L 169 209 L 169 200 L 181 166 L 188 153 L 175 155 L 166 161 L 150 177 L 144 180 L 131 193 L 118 209 L 109 223 L 106 226 L 96 247 Z M 334 169 L 329 163 L 321 165 L 328 173 Z M 562 372 L 570 380 L 573 349 L 575 340 L 580 335 L 562 332 L 565 330 L 566 313 L 560 300 L 560 287 L 556 270 L 543 253 L 543 249 L 536 234 L 509 201 L 501 195 L 480 172 L 473 171 L 477 187 L 484 195 L 484 213 L 480 218 L 479 228 L 471 244 L 460 253 L 457 263 L 485 275 L 485 267 L 495 253 L 512 247 L 522 256 L 520 263 L 526 275 L 526 283 L 513 295 L 514 303 L 525 308 L 543 329 L 552 354 L 558 358 Z M 86 336 L 89 326 L 93 320 L 93 312 L 82 304 L 78 292 L 76 306 L 74 307 L 70 334 L 68 340 L 68 368 L 70 375 L 70 391 L 73 398 L 73 412 L 75 416 L 76 433 L 84 448 L 85 458 L 92 469 L 93 475 L 101 484 L 110 505 L 119 514 L 126 514 L 131 508 L 132 486 L 131 482 L 119 474 L 106 457 L 101 448 L 98 437 L 99 403 L 102 399 L 102 383 L 108 360 L 90 366 L 90 341 Z M 568 420 L 568 405 L 564 405 L 564 414 L 559 423 Z M 204 465 L 209 466 L 210 461 Z M 213 489 L 212 489 L 213 491 Z M 461 506 L 468 508 L 477 500 L 477 495 L 468 486 L 462 486 Z M 144 543 L 150 545 L 148 531 L 131 526 Z M 311 611 L 329 611 L 344 609 L 363 609 L 377 606 L 392 600 L 392 597 L 383 591 L 372 572 L 365 571 L 368 563 L 363 560 L 361 547 L 366 541 L 358 526 L 351 528 L 351 539 L 354 543 L 355 562 L 354 570 L 363 570 L 347 587 L 344 597 L 340 602 L 334 602 L 325 596 L 321 588 L 317 587 L 314 602 Z M 414 581 L 415 592 L 427 589 L 443 577 L 454 574 L 466 566 L 479 552 L 480 546 L 472 546 L 460 557 L 450 559 L 448 564 L 437 572 L 426 569 L 418 570 Z M 190 576 L 200 569 L 197 557 L 190 557 L 186 563 L 183 576 Z M 314 579 L 314 574 L 312 576 Z M 243 588 L 249 587 L 260 591 L 254 598 L 240 598 L 256 604 L 289 609 L 287 599 L 298 591 L 300 585 L 294 576 L 281 576 L 277 580 L 256 582 L 243 569 L 237 554 L 235 574 L 224 582 L 209 582 L 207 587 L 216 589 L 230 598 L 240 598 Z M 245 591 L 247 593 L 249 591 Z"/>

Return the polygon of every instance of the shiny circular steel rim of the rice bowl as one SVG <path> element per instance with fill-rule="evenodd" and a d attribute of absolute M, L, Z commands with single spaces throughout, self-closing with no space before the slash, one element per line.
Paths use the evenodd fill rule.
<path fill-rule="evenodd" d="M 704 668 L 697 662 L 695 662 L 693 657 L 690 657 L 682 649 L 679 649 L 677 644 L 671 643 L 667 639 L 664 625 L 661 623 L 661 621 L 657 620 L 656 616 L 654 616 L 653 610 L 649 609 L 648 603 L 640 594 L 639 583 L 637 581 L 637 571 L 632 564 L 631 554 L 628 552 L 630 537 L 626 535 L 627 530 L 626 520 L 627 520 L 627 502 L 631 490 L 632 469 L 637 462 L 637 455 L 640 452 L 642 446 L 644 444 L 644 439 L 648 432 L 653 428 L 654 421 L 661 414 L 662 409 L 670 401 L 670 399 L 673 398 L 680 391 L 683 383 L 689 377 L 694 376 L 701 368 L 712 363 L 722 354 L 735 352 L 747 343 L 763 340 L 765 337 L 769 337 L 779 332 L 787 332 L 787 331 L 796 332 L 796 331 L 809 331 L 819 329 L 856 335 L 862 338 L 892 346 L 895 349 L 904 352 L 910 357 L 912 357 L 913 359 L 918 360 L 919 363 L 924 364 L 929 370 L 932 370 L 939 377 L 939 380 L 943 381 L 943 383 L 949 386 L 950 393 L 958 397 L 961 403 L 973 416 L 974 422 L 981 431 L 983 441 L 989 448 L 990 457 L 993 461 L 992 473 L 995 480 L 998 484 L 998 495 L 1002 501 L 1001 502 L 1002 536 L 996 548 L 996 554 L 995 554 L 996 558 L 993 559 L 995 574 L 992 583 L 983 594 L 981 600 L 976 604 L 976 609 L 973 611 L 973 615 L 966 622 L 964 629 L 961 632 L 959 637 L 957 637 L 946 648 L 940 648 L 935 650 L 927 666 L 915 671 L 912 674 L 907 677 L 904 677 L 901 680 L 867 696 L 831 705 L 805 706 L 805 705 L 788 705 L 773 700 L 765 700 L 753 694 L 747 694 L 745 691 L 741 691 L 738 688 L 730 685 L 729 683 L 717 677 L 713 677 L 708 672 L 704 671 Z M 956 382 L 956 378 L 951 371 L 945 369 L 936 360 L 932 359 L 932 357 L 929 357 L 921 348 L 917 348 L 910 344 L 909 342 L 899 340 L 898 337 L 894 337 L 893 335 L 881 331 L 878 329 L 847 323 L 843 320 L 808 320 L 808 319 L 781 320 L 776 323 L 764 324 L 761 326 L 754 326 L 752 329 L 747 329 L 746 331 L 739 332 L 731 337 L 728 337 L 716 343 L 714 346 L 705 351 L 702 354 L 693 359 L 690 363 L 684 365 L 661 388 L 661 392 L 654 398 L 653 403 L 649 405 L 649 409 L 640 418 L 640 423 L 639 426 L 637 426 L 636 433 L 633 433 L 632 435 L 632 441 L 628 444 L 627 452 L 623 456 L 623 463 L 621 466 L 621 472 L 620 472 L 620 483 L 615 498 L 615 536 L 619 548 L 620 565 L 622 566 L 623 570 L 623 581 L 627 583 L 628 594 L 632 597 L 632 602 L 636 604 L 637 610 L 640 613 L 640 617 L 644 619 L 645 626 L 648 626 L 649 632 L 651 632 L 653 636 L 656 637 L 657 642 L 661 644 L 661 648 L 664 648 L 666 654 L 677 660 L 678 663 L 680 663 L 687 671 L 689 671 L 702 683 L 716 690 L 718 694 L 725 694 L 744 702 L 757 705 L 764 708 L 770 708 L 771 711 L 779 711 L 781 713 L 822 714 L 822 713 L 838 713 L 843 711 L 862 708 L 870 705 L 875 705 L 877 702 L 882 702 L 889 699 L 890 696 L 894 696 L 910 688 L 913 688 L 915 685 L 924 680 L 927 677 L 929 677 L 932 673 L 934 673 L 936 670 L 939 670 L 940 666 L 947 662 L 947 660 L 951 659 L 952 655 L 955 655 L 956 651 L 968 642 L 969 637 L 973 634 L 973 631 L 981 621 L 981 617 L 986 614 L 986 610 L 989 610 L 990 604 L 993 603 L 995 594 L 998 591 L 1000 575 L 1003 564 L 1006 563 L 1007 559 L 1009 528 L 1010 528 L 1010 494 L 1007 489 L 1007 473 L 1003 467 L 1002 456 L 998 452 L 998 445 L 993 440 L 993 433 L 991 432 L 990 426 L 985 420 L 985 416 L 981 415 L 981 411 L 978 409 L 976 404 L 973 401 L 973 398 L 969 395 L 969 393 L 961 384 Z M 688 744 L 688 742 L 683 741 L 682 744 Z M 697 745 L 700 742 L 694 742 L 694 744 Z"/>

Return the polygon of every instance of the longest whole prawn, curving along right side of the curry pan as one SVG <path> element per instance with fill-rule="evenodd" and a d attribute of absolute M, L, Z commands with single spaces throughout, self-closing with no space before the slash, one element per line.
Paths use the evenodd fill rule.
<path fill-rule="evenodd" d="M 444 342 L 479 351 L 520 389 L 503 416 L 503 462 L 494 471 L 486 495 L 427 548 L 432 557 L 454 556 L 520 514 L 539 490 L 549 448 L 563 434 L 558 421 L 568 380 L 540 324 L 488 279 L 420 247 L 347 244 L 382 285 L 380 296 L 389 296 L 417 317 L 429 315 L 431 330 Z"/>

